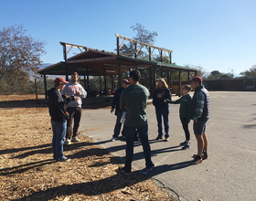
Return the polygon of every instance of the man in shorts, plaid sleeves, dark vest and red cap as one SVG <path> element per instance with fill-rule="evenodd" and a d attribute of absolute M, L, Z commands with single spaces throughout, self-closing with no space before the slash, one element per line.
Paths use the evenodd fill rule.
<path fill-rule="evenodd" d="M 190 119 L 194 121 L 193 130 L 197 139 L 197 154 L 191 164 L 200 164 L 208 158 L 208 137 L 206 125 L 209 119 L 209 94 L 202 85 L 200 77 L 191 80 L 191 88 L 195 90 L 190 105 Z"/>

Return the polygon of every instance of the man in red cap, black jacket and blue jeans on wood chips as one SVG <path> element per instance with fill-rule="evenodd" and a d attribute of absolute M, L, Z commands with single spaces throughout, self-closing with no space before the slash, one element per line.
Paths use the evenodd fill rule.
<path fill-rule="evenodd" d="M 51 116 L 52 125 L 52 148 L 53 148 L 53 158 L 57 162 L 69 161 L 69 158 L 65 157 L 63 154 L 63 143 L 67 130 L 67 118 L 69 114 L 66 113 L 65 107 L 71 100 L 77 100 L 74 96 L 61 96 L 60 90 L 65 88 L 65 83 L 68 83 L 63 78 L 57 78 L 54 80 L 54 88 L 48 90 L 48 109 L 49 115 Z"/>

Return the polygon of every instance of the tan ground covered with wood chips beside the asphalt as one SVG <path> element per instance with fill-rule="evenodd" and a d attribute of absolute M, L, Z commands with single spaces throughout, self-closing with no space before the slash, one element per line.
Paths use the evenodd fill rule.
<path fill-rule="evenodd" d="M 119 173 L 123 164 L 88 137 L 56 163 L 48 105 L 35 99 L 0 95 L 0 200 L 174 200 L 145 175 Z"/>

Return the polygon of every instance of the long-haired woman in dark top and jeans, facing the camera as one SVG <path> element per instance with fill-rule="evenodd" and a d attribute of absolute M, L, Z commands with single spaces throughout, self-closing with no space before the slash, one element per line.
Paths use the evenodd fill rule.
<path fill-rule="evenodd" d="M 165 141 L 169 140 L 169 104 L 165 100 L 172 100 L 171 91 L 168 89 L 168 85 L 165 82 L 165 79 L 157 80 L 157 88 L 153 94 L 153 105 L 155 106 L 155 115 L 158 127 L 158 135 L 155 140 L 163 139 L 163 124 L 162 117 L 164 119 L 165 125 Z"/>

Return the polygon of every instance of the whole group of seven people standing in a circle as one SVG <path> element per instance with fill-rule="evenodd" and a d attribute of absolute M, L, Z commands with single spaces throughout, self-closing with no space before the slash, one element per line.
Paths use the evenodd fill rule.
<path fill-rule="evenodd" d="M 115 115 L 117 116 L 112 141 L 117 140 L 123 124 L 122 135 L 126 142 L 126 157 L 124 167 L 120 167 L 119 171 L 125 175 L 132 174 L 133 143 L 136 134 L 139 135 L 144 150 L 146 167 L 143 170 L 143 174 L 146 175 L 155 167 L 151 160 L 145 111 L 149 91 L 139 83 L 140 78 L 140 71 L 137 69 L 132 70 L 129 81 L 123 79 L 122 88 L 115 91 L 112 101 L 111 112 L 115 109 Z M 69 82 L 63 78 L 57 78 L 54 82 L 55 87 L 48 90 L 48 107 L 53 131 L 53 157 L 57 162 L 69 161 L 69 158 L 63 154 L 63 144 L 68 145 L 71 142 L 79 142 L 78 128 L 81 117 L 81 98 L 85 98 L 87 92 L 78 83 L 78 73 L 76 72 L 72 73 Z M 195 90 L 193 99 L 189 95 L 191 88 Z M 158 135 L 155 140 L 163 139 L 164 136 L 162 117 L 165 126 L 165 141 L 169 140 L 168 103 L 180 103 L 180 121 L 186 133 L 186 141 L 180 143 L 180 145 L 183 145 L 182 149 L 190 148 L 188 123 L 193 120 L 193 129 L 197 139 L 197 154 L 193 156 L 194 160 L 191 163 L 199 164 L 208 157 L 208 138 L 205 131 L 209 117 L 209 95 L 208 90 L 202 85 L 202 79 L 199 77 L 191 80 L 191 88 L 188 85 L 182 86 L 183 96 L 179 100 L 173 101 L 165 79 L 157 81 L 157 89 L 153 95 L 158 126 Z M 125 121 L 122 120 L 123 118 L 125 118 Z M 73 119 L 74 126 L 72 131 Z M 71 133 L 73 133 L 72 138 Z M 64 143 L 65 138 L 66 141 Z"/>

